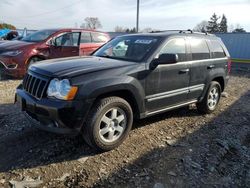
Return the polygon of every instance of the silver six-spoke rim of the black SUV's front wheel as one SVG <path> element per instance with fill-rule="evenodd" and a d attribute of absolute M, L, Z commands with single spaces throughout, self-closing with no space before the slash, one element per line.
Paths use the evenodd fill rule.
<path fill-rule="evenodd" d="M 111 108 L 101 118 L 99 136 L 104 142 L 114 142 L 122 136 L 126 125 L 127 116 L 124 110 Z"/>

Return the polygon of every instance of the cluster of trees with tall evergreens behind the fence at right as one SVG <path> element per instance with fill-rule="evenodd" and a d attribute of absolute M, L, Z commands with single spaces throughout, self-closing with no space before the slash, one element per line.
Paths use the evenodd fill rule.
<path fill-rule="evenodd" d="M 228 22 L 226 16 L 223 14 L 222 17 L 217 16 L 215 13 L 211 16 L 209 21 L 203 20 L 198 23 L 194 29 L 198 32 L 208 32 L 208 33 L 245 33 L 245 29 L 239 24 L 236 26 L 231 25 L 228 27 Z"/>

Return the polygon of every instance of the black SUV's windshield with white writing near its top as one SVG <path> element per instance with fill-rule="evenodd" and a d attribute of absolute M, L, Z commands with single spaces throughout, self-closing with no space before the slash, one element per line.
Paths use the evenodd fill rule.
<path fill-rule="evenodd" d="M 155 46 L 157 41 L 157 37 L 151 36 L 134 35 L 117 37 L 97 50 L 93 55 L 139 62 Z"/>

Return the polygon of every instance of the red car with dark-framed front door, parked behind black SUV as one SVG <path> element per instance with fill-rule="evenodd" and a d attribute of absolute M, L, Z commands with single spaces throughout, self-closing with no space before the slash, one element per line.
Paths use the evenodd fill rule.
<path fill-rule="evenodd" d="M 89 55 L 109 40 L 108 34 L 93 30 L 40 30 L 19 41 L 0 43 L 0 70 L 3 75 L 20 78 L 36 61 Z"/>

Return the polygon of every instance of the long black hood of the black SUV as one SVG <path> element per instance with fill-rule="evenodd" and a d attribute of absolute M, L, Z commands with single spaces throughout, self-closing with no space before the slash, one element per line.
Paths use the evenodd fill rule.
<path fill-rule="evenodd" d="M 95 56 L 86 56 L 42 61 L 32 65 L 29 70 L 49 77 L 74 77 L 81 74 L 131 66 L 135 64 L 137 63 Z"/>

